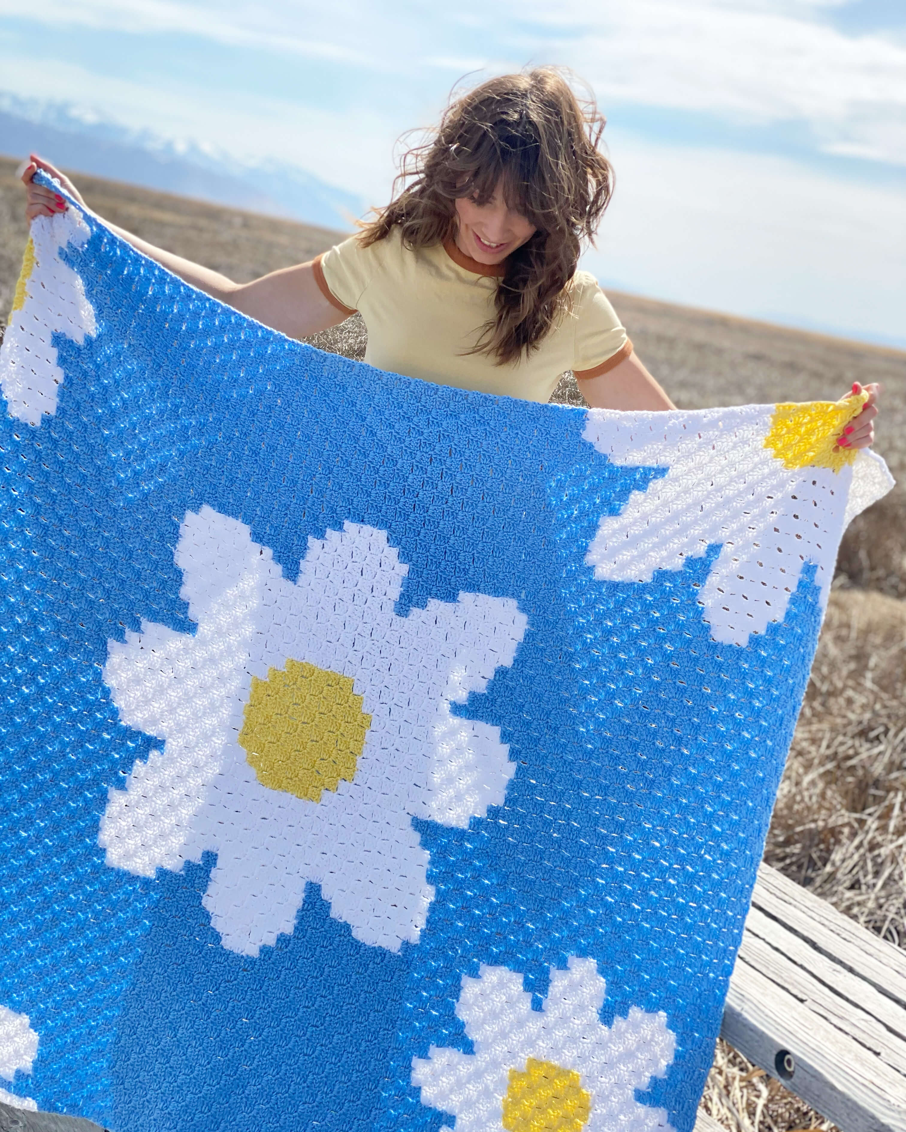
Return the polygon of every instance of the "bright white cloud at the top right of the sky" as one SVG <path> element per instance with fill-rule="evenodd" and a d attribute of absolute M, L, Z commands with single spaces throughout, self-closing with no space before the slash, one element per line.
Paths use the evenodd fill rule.
<path fill-rule="evenodd" d="M 519 11 L 552 31 L 574 27 L 557 38 L 557 53 L 605 104 L 618 98 L 760 126 L 801 121 L 824 149 L 906 163 L 906 45 L 846 35 L 807 18 L 810 7 L 564 0 L 552 15 L 539 0 L 520 0 Z"/>

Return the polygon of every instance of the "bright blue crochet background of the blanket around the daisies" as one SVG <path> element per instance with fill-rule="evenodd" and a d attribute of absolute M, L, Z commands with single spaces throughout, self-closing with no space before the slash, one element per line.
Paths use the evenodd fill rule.
<path fill-rule="evenodd" d="M 99 333 L 54 338 L 55 415 L 0 420 L 0 1003 L 41 1038 L 10 1088 L 116 1132 L 435 1130 L 452 1120 L 411 1060 L 470 1050 L 462 975 L 506 964 L 540 1006 L 576 954 L 607 980 L 604 1022 L 666 1011 L 676 1056 L 639 1099 L 690 1132 L 817 641 L 807 569 L 783 624 L 716 644 L 696 584 L 719 548 L 651 584 L 583 564 L 601 514 L 661 474 L 608 463 L 583 411 L 320 353 L 88 223 L 65 258 Z M 287 577 L 351 520 L 410 564 L 399 612 L 464 590 L 528 615 L 512 668 L 461 709 L 510 744 L 506 805 L 417 823 L 436 898 L 400 954 L 309 885 L 293 935 L 249 959 L 202 907 L 211 855 L 154 881 L 104 864 L 108 788 L 155 743 L 119 722 L 108 640 L 140 618 L 194 632 L 173 550 L 202 504 Z"/>

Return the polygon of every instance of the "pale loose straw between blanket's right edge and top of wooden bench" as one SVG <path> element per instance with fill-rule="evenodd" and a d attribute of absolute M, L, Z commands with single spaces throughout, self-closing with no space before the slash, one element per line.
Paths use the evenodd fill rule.
<path fill-rule="evenodd" d="M 831 593 L 766 859 L 906 945 L 906 602 Z"/>

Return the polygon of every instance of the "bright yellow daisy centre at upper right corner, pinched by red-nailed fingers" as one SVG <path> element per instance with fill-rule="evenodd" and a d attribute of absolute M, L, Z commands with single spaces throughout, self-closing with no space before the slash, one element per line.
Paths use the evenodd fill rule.
<path fill-rule="evenodd" d="M 861 393 L 840 401 L 776 405 L 764 447 L 783 460 L 784 468 L 832 468 L 839 472 L 853 463 L 858 449 L 840 446 L 837 437 L 867 400 L 867 393 Z"/>

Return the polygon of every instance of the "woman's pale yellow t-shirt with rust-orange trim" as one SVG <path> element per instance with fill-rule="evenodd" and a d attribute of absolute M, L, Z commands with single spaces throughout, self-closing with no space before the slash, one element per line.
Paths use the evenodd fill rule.
<path fill-rule="evenodd" d="M 318 256 L 315 278 L 348 315 L 360 311 L 368 328 L 365 360 L 378 369 L 461 389 L 548 401 L 564 370 L 597 377 L 632 352 L 632 343 L 593 275 L 569 283 L 572 310 L 537 350 L 497 366 L 467 351 L 494 317 L 502 267 L 480 264 L 455 243 L 409 249 L 399 228 L 364 248 L 356 237 Z"/>

